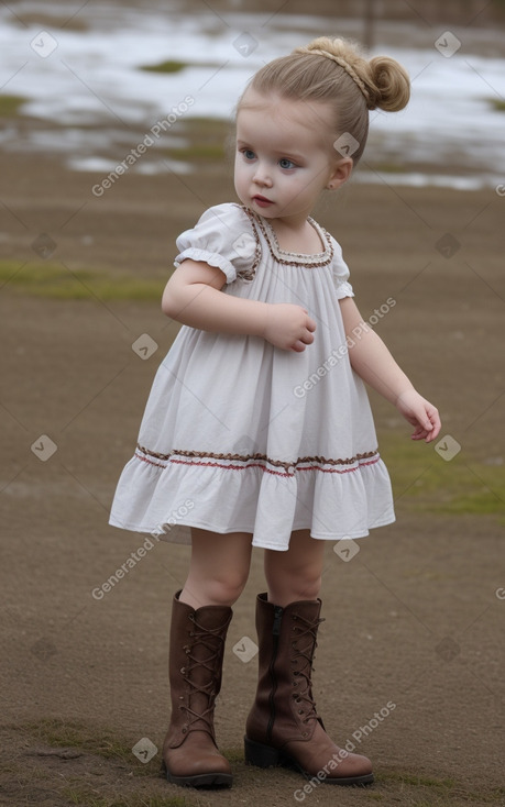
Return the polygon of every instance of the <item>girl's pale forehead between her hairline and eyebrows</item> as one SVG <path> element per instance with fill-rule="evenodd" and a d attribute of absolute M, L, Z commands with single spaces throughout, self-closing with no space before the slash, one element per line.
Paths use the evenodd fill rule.
<path fill-rule="evenodd" d="M 237 113 L 237 136 L 255 136 L 272 145 L 284 142 L 318 148 L 332 142 L 332 110 L 321 101 L 263 95 L 248 89 Z"/>

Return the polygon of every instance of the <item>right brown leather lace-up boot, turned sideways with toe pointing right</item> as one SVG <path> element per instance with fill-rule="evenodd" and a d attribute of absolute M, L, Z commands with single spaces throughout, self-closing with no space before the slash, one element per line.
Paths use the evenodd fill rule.
<path fill-rule="evenodd" d="M 328 785 L 373 782 L 366 756 L 339 749 L 325 731 L 312 697 L 312 660 L 321 600 L 285 608 L 256 600 L 260 674 L 245 727 L 245 762 L 284 765 Z"/>

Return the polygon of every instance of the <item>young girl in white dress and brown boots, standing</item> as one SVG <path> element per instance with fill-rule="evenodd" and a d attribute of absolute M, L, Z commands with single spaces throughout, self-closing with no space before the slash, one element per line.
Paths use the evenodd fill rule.
<path fill-rule="evenodd" d="M 210 208 L 177 240 L 162 307 L 184 327 L 156 374 L 110 519 L 157 537 L 164 524 L 191 528 L 172 610 L 169 782 L 231 784 L 213 709 L 252 546 L 265 550 L 268 590 L 256 599 L 246 762 L 294 766 L 327 785 L 373 781 L 365 756 L 328 737 L 312 698 L 325 545 L 394 521 L 363 382 L 415 427 L 414 440 L 432 441 L 440 421 L 363 322 L 341 248 L 310 212 L 349 179 L 369 110 L 399 110 L 408 98 L 400 65 L 369 62 L 342 40 L 320 37 L 267 64 L 238 104 L 241 203 Z"/>

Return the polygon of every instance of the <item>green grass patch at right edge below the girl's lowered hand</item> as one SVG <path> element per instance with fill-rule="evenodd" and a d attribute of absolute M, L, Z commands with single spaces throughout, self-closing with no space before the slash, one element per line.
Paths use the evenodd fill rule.
<path fill-rule="evenodd" d="M 452 516 L 494 515 L 505 523 L 505 466 L 474 461 L 464 446 L 446 462 L 432 445 L 396 435 L 384 436 L 380 447 L 396 500 Z"/>

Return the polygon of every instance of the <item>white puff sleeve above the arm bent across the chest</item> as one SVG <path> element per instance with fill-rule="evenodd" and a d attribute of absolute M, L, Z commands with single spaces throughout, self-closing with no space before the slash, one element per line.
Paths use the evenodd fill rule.
<path fill-rule="evenodd" d="M 202 261 L 227 276 L 227 284 L 238 277 L 252 279 L 259 259 L 259 241 L 246 213 L 231 202 L 216 204 L 200 217 L 193 230 L 185 230 L 177 241 L 174 263 Z"/>

